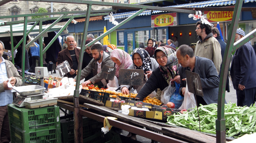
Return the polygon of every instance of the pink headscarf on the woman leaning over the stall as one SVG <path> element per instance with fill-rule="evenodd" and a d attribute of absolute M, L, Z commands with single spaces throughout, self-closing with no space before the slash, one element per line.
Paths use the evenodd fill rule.
<path fill-rule="evenodd" d="M 119 69 L 127 69 L 131 64 L 133 64 L 131 56 L 121 49 L 114 49 L 110 55 L 111 60 L 112 58 L 116 58 L 121 62 L 121 65 L 116 64 L 116 77 L 119 77 Z"/>

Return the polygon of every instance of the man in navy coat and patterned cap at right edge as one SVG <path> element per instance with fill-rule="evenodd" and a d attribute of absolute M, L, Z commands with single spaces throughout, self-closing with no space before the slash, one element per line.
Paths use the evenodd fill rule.
<path fill-rule="evenodd" d="M 235 42 L 244 37 L 244 31 L 236 30 Z M 237 106 L 250 107 L 256 95 L 256 55 L 249 42 L 238 48 L 233 55 L 230 76 L 236 90 Z"/>

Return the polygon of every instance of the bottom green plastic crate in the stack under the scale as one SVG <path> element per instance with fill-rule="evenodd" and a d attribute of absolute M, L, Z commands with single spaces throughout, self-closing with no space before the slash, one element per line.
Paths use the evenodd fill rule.
<path fill-rule="evenodd" d="M 38 132 L 23 133 L 12 124 L 11 142 L 12 143 L 61 143 L 61 129 L 51 129 Z"/>

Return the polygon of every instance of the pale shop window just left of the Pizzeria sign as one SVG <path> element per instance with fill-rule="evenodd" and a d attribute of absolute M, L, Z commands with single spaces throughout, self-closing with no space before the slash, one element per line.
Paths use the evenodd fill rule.
<path fill-rule="evenodd" d="M 149 38 L 149 31 L 135 31 L 135 48 L 146 48 Z"/>

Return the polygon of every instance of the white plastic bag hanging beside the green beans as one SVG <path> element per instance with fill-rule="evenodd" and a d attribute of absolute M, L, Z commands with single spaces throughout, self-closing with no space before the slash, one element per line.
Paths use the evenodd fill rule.
<path fill-rule="evenodd" d="M 193 93 L 189 93 L 188 84 L 186 84 L 186 90 L 184 94 L 184 100 L 179 109 L 195 108 L 196 101 Z"/>

